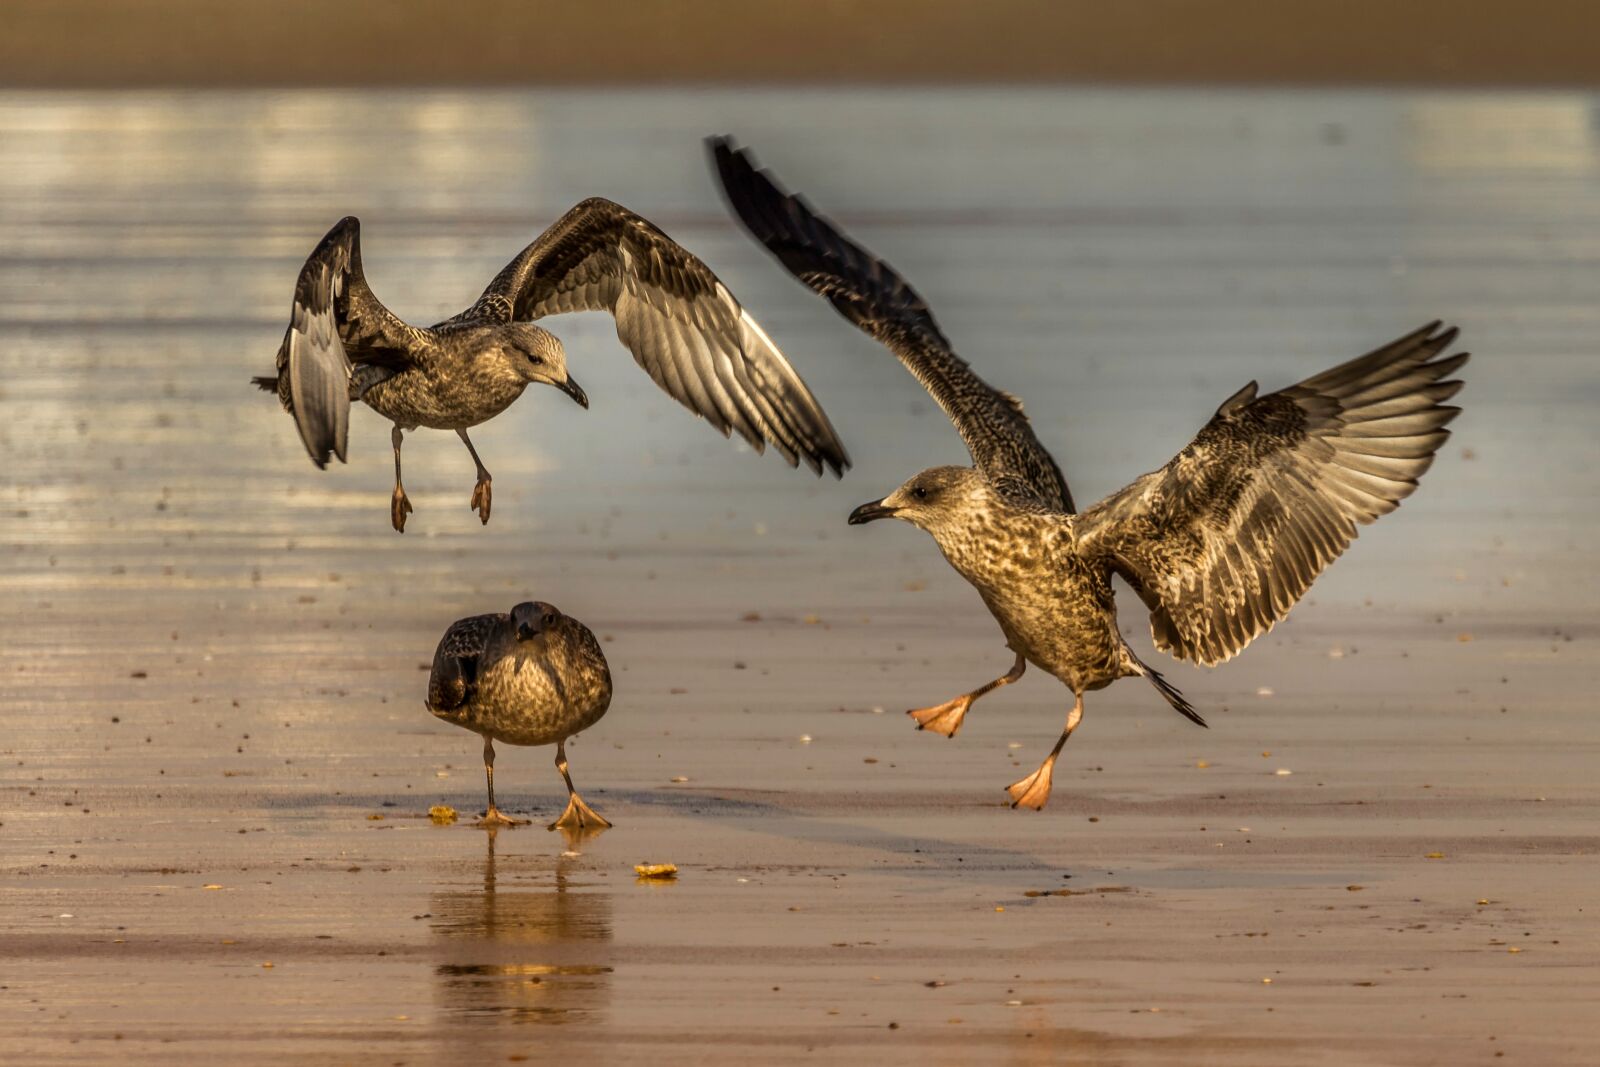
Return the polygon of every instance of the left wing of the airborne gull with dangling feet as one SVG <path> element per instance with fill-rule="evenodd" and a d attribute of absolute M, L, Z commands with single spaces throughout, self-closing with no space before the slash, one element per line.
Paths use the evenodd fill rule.
<path fill-rule="evenodd" d="M 328 453 L 344 462 L 352 360 L 392 368 L 416 334 L 366 286 L 360 238 L 362 224 L 344 218 L 306 259 L 278 346 L 277 392 L 318 467 Z"/>

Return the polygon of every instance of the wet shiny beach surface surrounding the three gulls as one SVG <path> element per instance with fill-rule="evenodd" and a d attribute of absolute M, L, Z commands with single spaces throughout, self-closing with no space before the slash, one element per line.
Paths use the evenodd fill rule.
<path fill-rule="evenodd" d="M 0 96 L 0 1040 L 32 1064 L 1587 1064 L 1600 186 L 1584 96 Z M 1038 672 L 955 741 L 902 709 L 1010 656 L 920 533 L 843 523 L 947 422 L 722 211 L 728 130 L 901 267 L 1083 501 L 1245 381 L 1435 317 L 1477 358 L 1421 491 L 1213 672 L 1208 715 Z M 398 314 L 466 306 L 587 194 L 701 251 L 858 466 L 694 424 L 602 317 L 584 413 L 352 419 L 320 474 L 251 392 L 306 251 L 363 218 Z M 422 710 L 458 616 L 602 633 L 571 749 L 616 822 L 483 803 Z M 1123 621 L 1149 649 L 1142 613 Z M 502 747 L 547 821 L 547 749 Z M 1283 774 L 1280 771 L 1290 771 Z M 683 781 L 674 781 L 683 779 Z M 632 865 L 670 861 L 672 885 Z M 270 965 L 270 966 L 269 966 Z"/>

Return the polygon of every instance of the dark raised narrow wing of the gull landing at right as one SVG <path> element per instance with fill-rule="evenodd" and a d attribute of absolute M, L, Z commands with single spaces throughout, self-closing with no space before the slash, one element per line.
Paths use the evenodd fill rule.
<path fill-rule="evenodd" d="M 778 261 L 826 296 L 917 376 L 955 422 L 973 462 L 1002 491 L 1072 510 L 1056 461 L 1034 437 L 1022 403 L 973 373 L 939 333 L 928 304 L 894 270 L 786 194 L 726 138 L 709 141 L 739 221 Z"/>

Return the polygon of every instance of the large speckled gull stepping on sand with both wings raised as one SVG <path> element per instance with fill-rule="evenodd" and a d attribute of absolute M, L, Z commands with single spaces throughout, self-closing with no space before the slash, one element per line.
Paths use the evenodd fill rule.
<path fill-rule="evenodd" d="M 1445 381 L 1466 354 L 1438 323 L 1266 397 L 1250 382 L 1222 402 L 1171 462 L 1085 512 L 1034 437 L 1022 405 L 955 355 L 928 306 L 888 264 L 784 194 L 728 141 L 712 141 L 728 200 L 802 282 L 882 341 L 955 422 L 973 467 L 934 467 L 851 523 L 902 518 L 933 534 L 1016 654 L 1010 672 L 938 707 L 918 728 L 955 736 L 973 701 L 1029 662 L 1064 681 L 1072 710 L 1043 765 L 1014 782 L 1013 806 L 1043 808 L 1056 755 L 1083 717 L 1083 693 L 1149 678 L 1205 725 L 1117 630 L 1112 574 L 1150 609 L 1155 646 L 1219 664 L 1288 614 L 1312 579 L 1416 488 L 1458 414 Z"/>

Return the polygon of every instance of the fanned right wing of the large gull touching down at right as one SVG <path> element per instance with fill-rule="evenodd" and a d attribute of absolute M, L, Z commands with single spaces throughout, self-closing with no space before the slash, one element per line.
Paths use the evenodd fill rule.
<path fill-rule="evenodd" d="M 1312 579 L 1416 490 L 1459 408 L 1467 354 L 1432 323 L 1256 397 L 1230 397 L 1170 464 L 1077 520 L 1080 552 L 1139 592 L 1157 648 L 1211 665 L 1288 614 Z"/>

